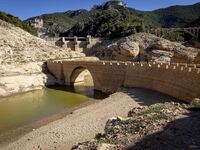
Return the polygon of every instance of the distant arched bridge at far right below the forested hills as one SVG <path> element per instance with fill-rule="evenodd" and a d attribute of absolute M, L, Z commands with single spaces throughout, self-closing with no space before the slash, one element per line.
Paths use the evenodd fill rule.
<path fill-rule="evenodd" d="M 200 38 L 200 27 L 188 27 L 188 28 L 158 28 L 153 29 L 149 31 L 151 33 L 154 33 L 155 35 L 159 37 L 164 37 L 166 34 L 170 32 L 185 32 L 190 34 L 195 39 Z"/>

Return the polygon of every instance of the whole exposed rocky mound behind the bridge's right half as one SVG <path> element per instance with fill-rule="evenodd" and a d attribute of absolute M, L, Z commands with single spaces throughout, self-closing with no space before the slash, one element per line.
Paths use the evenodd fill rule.
<path fill-rule="evenodd" d="M 152 34 L 137 33 L 119 40 L 105 41 L 88 50 L 86 54 L 107 60 L 148 59 L 161 62 L 192 62 L 199 51 Z"/>

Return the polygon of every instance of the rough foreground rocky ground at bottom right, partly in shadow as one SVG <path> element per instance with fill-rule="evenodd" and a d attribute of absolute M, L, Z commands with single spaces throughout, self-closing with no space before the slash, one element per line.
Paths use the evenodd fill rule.
<path fill-rule="evenodd" d="M 104 133 L 72 150 L 199 149 L 199 109 L 199 100 L 191 105 L 170 102 L 140 106 L 132 109 L 127 118 L 109 119 Z"/>

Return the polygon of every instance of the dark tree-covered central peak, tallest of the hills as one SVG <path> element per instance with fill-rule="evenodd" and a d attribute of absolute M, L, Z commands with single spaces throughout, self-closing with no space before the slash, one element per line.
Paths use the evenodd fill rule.
<path fill-rule="evenodd" d="M 109 5 L 110 4 L 110 5 Z M 113 3 L 94 6 L 88 17 L 76 23 L 62 36 L 86 36 L 118 38 L 153 27 L 135 12 Z"/>

